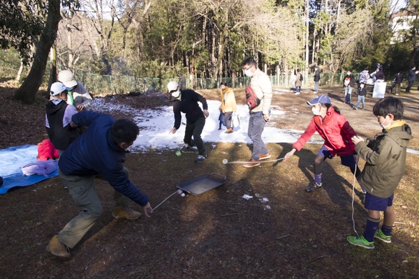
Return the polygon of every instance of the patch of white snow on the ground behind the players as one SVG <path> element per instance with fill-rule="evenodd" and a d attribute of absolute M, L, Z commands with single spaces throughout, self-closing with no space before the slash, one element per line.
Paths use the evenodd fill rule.
<path fill-rule="evenodd" d="M 249 109 L 247 105 L 237 105 L 236 114 L 240 119 L 240 127 L 234 129 L 234 133 L 226 134 L 226 128 L 219 128 L 219 107 L 220 101 L 207 100 L 208 112 L 210 116 L 206 119 L 205 127 L 202 133 L 204 142 L 240 142 L 251 144 L 247 136 L 249 126 Z M 200 104 L 200 103 L 199 103 Z M 202 104 L 200 104 L 202 107 Z M 298 112 L 296 108 L 286 107 L 286 109 Z M 135 140 L 131 151 L 149 151 L 150 149 L 179 149 L 183 146 L 183 138 L 186 126 L 181 124 L 175 134 L 169 134 L 170 129 L 175 123 L 172 106 L 157 107 L 154 110 L 138 110 L 128 105 L 106 103 L 103 98 L 95 98 L 91 103 L 91 110 L 96 112 L 126 112 L 133 115 L 134 122 L 140 127 L 140 135 Z M 280 119 L 286 114 L 283 107 L 273 105 L 271 109 L 271 119 L 267 122 L 265 130 L 262 133 L 262 139 L 265 143 L 294 143 L 304 133 L 303 130 L 280 129 L 274 127 L 274 120 Z M 185 115 L 182 114 L 182 123 L 186 123 Z M 323 139 L 319 139 L 317 133 L 309 140 L 311 144 L 323 144 Z M 214 146 L 214 144 L 212 144 Z M 241 144 L 239 145 L 241 146 Z M 408 149 L 410 153 L 419 154 L 419 151 Z"/>

